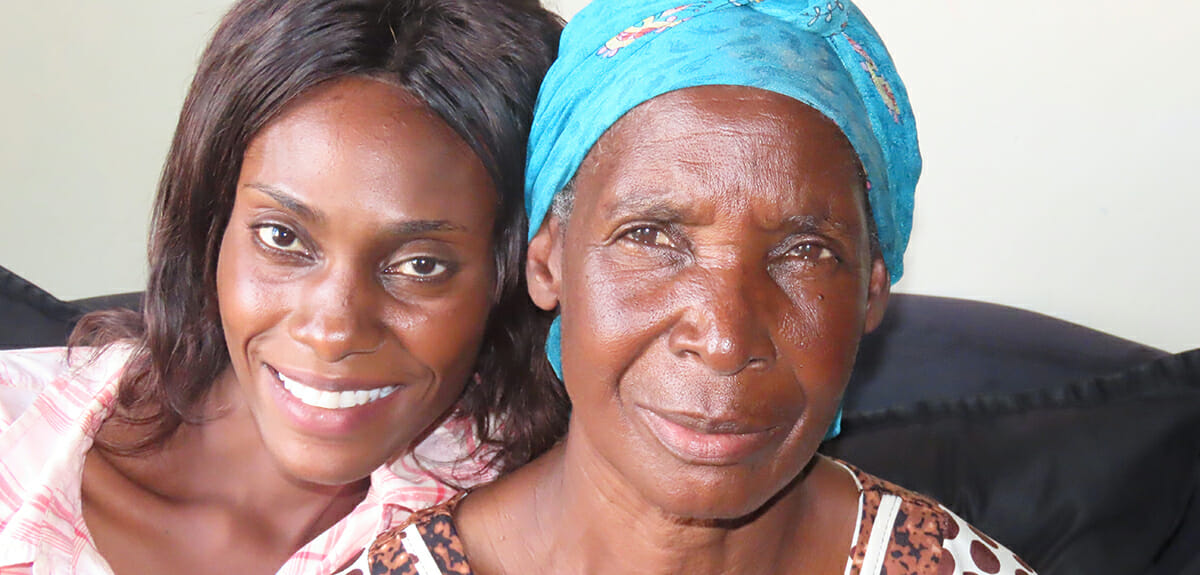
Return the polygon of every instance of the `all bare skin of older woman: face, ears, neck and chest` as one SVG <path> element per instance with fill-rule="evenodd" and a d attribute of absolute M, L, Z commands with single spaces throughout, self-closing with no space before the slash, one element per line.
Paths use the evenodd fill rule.
<path fill-rule="evenodd" d="M 841 573 L 857 489 L 814 454 L 888 291 L 845 137 L 784 96 L 690 88 L 628 113 L 574 185 L 528 268 L 562 312 L 570 430 L 464 499 L 473 567 Z M 497 509 L 533 509 L 492 517 L 535 535 L 473 540 L 500 532 L 472 526 Z"/>

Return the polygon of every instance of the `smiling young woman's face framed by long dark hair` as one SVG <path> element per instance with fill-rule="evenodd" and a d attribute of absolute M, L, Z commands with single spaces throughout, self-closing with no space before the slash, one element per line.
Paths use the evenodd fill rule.
<path fill-rule="evenodd" d="M 246 150 L 217 298 L 266 449 L 347 484 L 402 454 L 460 396 L 492 304 L 497 193 L 403 89 L 313 89 Z"/>

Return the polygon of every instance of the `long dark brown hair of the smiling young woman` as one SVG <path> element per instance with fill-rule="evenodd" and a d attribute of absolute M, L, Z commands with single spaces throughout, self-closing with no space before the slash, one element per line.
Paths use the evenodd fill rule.
<path fill-rule="evenodd" d="M 250 140 L 289 102 L 362 76 L 421 98 L 482 160 L 499 192 L 496 306 L 458 403 L 491 463 L 521 465 L 565 429 L 569 403 L 541 357 L 545 317 L 524 288 L 524 150 L 562 20 L 538 0 L 242 0 L 204 50 L 158 182 L 143 311 L 84 317 L 70 345 L 132 341 L 116 417 L 161 447 L 228 366 L 216 263 Z M 500 421 L 502 425 L 496 425 Z"/>

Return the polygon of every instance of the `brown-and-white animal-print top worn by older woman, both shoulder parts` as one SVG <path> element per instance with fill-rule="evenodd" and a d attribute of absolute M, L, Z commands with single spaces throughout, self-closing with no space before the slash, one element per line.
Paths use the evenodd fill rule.
<path fill-rule="evenodd" d="M 1012 551 L 929 497 L 835 463 L 859 486 L 860 513 L 845 575 L 1037 575 Z M 463 495 L 384 532 L 353 569 L 338 573 L 474 575 L 454 526 Z"/>

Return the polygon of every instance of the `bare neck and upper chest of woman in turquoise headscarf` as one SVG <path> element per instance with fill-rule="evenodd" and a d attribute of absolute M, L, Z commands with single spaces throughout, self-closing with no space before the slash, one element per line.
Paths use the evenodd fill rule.
<path fill-rule="evenodd" d="M 798 478 L 751 517 L 692 520 L 647 502 L 586 442 L 569 435 L 536 462 L 468 497 L 458 523 L 473 568 L 481 574 L 840 574 L 857 519 L 857 489 L 844 473 L 836 475 L 838 468 L 829 477 L 826 467 L 832 463 L 815 461 L 816 479 Z M 850 491 L 841 485 L 839 492 L 839 479 Z M 817 485 L 850 495 L 853 509 L 822 523 L 818 517 L 830 516 L 830 502 L 814 497 Z M 474 509 L 466 505 L 476 497 Z M 829 499 L 839 499 L 836 508 L 845 510 L 845 497 Z M 481 516 L 488 519 L 478 521 Z M 506 544 L 487 535 L 504 532 L 523 535 Z M 488 540 L 487 547 L 473 545 L 480 540 Z M 826 545 L 829 540 L 836 544 Z M 805 552 L 822 545 L 840 552 Z"/>

